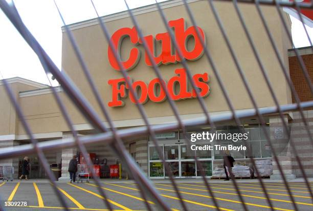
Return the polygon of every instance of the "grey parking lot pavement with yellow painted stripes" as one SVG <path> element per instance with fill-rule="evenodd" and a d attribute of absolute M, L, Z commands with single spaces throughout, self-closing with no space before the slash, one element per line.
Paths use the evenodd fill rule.
<path fill-rule="evenodd" d="M 165 180 L 153 181 L 160 195 L 173 210 L 183 210 L 182 201 L 171 183 Z M 282 182 L 265 181 L 266 192 L 276 210 L 294 210 L 292 198 Z M 201 181 L 176 180 L 178 191 L 189 210 L 215 210 L 212 196 Z M 313 188 L 313 182 L 310 183 Z M 211 182 L 210 187 L 220 210 L 243 210 L 244 203 L 249 210 L 267 210 L 270 205 L 257 182 L 238 183 L 239 193 L 231 181 Z M 290 182 L 290 191 L 298 210 L 313 210 L 312 198 L 304 182 Z M 98 186 L 91 183 L 58 183 L 58 188 L 72 210 L 108 210 Z M 143 196 L 132 181 L 102 180 L 101 188 L 106 193 L 114 210 L 158 210 L 151 199 Z M 244 202 L 241 201 L 239 194 Z M 3 182 L 0 183 L 0 201 L 6 210 L 62 210 L 63 206 L 48 182 Z M 8 202 L 22 206 L 4 206 Z M 27 203 L 21 204 L 22 202 Z"/>

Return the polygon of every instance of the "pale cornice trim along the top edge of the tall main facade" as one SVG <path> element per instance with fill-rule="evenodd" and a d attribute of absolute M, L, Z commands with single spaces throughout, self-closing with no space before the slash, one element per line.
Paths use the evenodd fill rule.
<path fill-rule="evenodd" d="M 187 3 L 193 3 L 193 2 L 198 2 L 198 1 L 201 1 L 201 0 L 187 0 Z M 181 0 L 169 0 L 166 2 L 161 2 L 159 4 L 160 4 L 160 7 L 162 9 L 166 9 L 166 8 L 171 8 L 171 7 L 183 5 L 184 2 Z M 153 12 L 153 11 L 157 11 L 157 10 L 158 10 L 158 7 L 156 4 L 146 5 L 143 7 L 131 9 L 133 15 L 145 14 L 145 13 Z M 127 17 L 130 17 L 130 15 L 129 15 L 128 11 L 125 10 L 125 11 L 105 15 L 105 16 L 102 16 L 100 18 L 101 18 L 103 23 L 107 23 L 107 22 L 111 22 L 113 20 L 118 20 L 118 19 L 127 18 Z M 99 24 L 98 18 L 96 17 L 96 18 L 92 18 L 92 19 L 88 19 L 88 20 L 83 20 L 81 22 L 69 24 L 67 26 L 68 26 L 69 30 L 76 30 L 76 29 L 94 26 L 94 25 L 98 25 L 98 24 Z M 62 29 L 62 32 L 65 32 L 65 26 L 62 26 L 61 29 Z"/>

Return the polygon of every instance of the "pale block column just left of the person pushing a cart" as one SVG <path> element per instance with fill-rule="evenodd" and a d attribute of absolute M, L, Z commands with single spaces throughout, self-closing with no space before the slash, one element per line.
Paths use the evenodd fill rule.
<path fill-rule="evenodd" d="M 70 138 L 72 137 L 72 133 L 69 132 L 63 132 L 62 138 Z M 61 177 L 59 178 L 59 181 L 61 180 L 70 180 L 70 174 L 68 172 L 69 163 L 70 160 L 73 158 L 74 155 L 76 155 L 77 149 L 69 148 L 69 149 L 63 149 L 62 150 L 62 171 L 61 171 Z"/>

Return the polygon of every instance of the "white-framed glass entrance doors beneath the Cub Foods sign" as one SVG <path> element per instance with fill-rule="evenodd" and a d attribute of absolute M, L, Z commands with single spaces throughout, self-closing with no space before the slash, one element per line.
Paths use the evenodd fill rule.
<path fill-rule="evenodd" d="M 204 145 L 204 143 L 199 143 Z M 193 151 L 184 142 L 160 143 L 166 163 L 169 165 L 174 178 L 199 178 L 200 168 L 194 156 L 204 168 L 205 176 L 212 176 L 211 151 Z M 168 178 L 165 166 L 154 145 L 149 145 L 149 176 L 151 178 Z"/>

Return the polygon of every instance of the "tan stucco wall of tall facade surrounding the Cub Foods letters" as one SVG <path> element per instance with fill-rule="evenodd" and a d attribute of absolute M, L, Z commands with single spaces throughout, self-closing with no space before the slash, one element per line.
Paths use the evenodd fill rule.
<path fill-rule="evenodd" d="M 265 81 L 258 68 L 257 62 L 254 58 L 253 52 L 250 49 L 248 40 L 245 38 L 245 34 L 241 29 L 239 20 L 235 14 L 233 6 L 226 3 L 215 3 L 218 8 L 221 19 L 224 23 L 229 38 L 233 44 L 235 52 L 238 56 L 240 64 L 244 70 L 248 81 L 250 82 L 253 93 L 255 94 L 259 107 L 273 106 L 270 93 L 266 88 Z M 197 24 L 201 27 L 207 40 L 207 48 L 212 53 L 215 64 L 220 72 L 223 82 L 229 92 L 231 100 L 234 103 L 236 109 L 251 108 L 249 97 L 245 88 L 242 85 L 242 81 L 235 68 L 231 55 L 227 49 L 225 41 L 221 37 L 221 33 L 215 23 L 214 17 L 211 14 L 211 10 L 205 1 L 200 1 L 190 4 L 190 7 L 195 15 Z M 283 75 L 279 69 L 279 64 L 272 50 L 271 44 L 263 30 L 263 26 L 258 18 L 255 6 L 253 5 L 241 5 L 241 9 L 244 12 L 245 21 L 248 28 L 254 37 L 255 44 L 264 67 L 269 72 L 271 82 L 281 104 L 288 103 L 288 94 L 286 93 L 286 83 L 282 80 Z M 287 51 L 282 42 L 282 28 L 280 19 L 275 11 L 275 8 L 264 7 L 267 23 L 269 23 L 272 30 L 272 34 L 276 40 L 277 46 L 281 55 L 287 55 Z M 184 17 L 187 22 L 187 27 L 191 26 L 191 22 L 188 18 L 184 6 L 172 7 L 164 10 L 168 20 L 178 19 Z M 143 34 L 152 34 L 155 36 L 157 33 L 166 32 L 163 27 L 160 15 L 158 11 L 137 15 L 139 25 L 142 27 Z M 153 20 L 153 24 L 151 24 Z M 132 27 L 130 18 L 123 18 L 108 22 L 107 27 L 111 33 L 122 27 Z M 121 78 L 122 75 L 116 70 L 111 68 L 107 59 L 107 43 L 101 32 L 99 25 L 76 29 L 73 31 L 83 57 L 87 66 L 96 81 L 96 85 L 100 90 L 103 97 L 103 101 L 107 104 L 111 100 L 111 87 L 107 84 L 108 79 Z M 127 38 L 122 44 L 122 57 L 126 57 L 129 49 L 132 48 L 127 42 Z M 155 74 L 151 67 L 146 66 L 144 62 L 144 50 L 142 46 L 138 46 L 142 56 L 139 64 L 134 69 L 128 71 L 128 74 L 133 80 L 143 80 L 148 83 L 151 79 L 155 78 Z M 74 82 L 79 85 L 86 98 L 95 105 L 94 97 L 91 94 L 90 89 L 86 88 L 87 83 L 81 72 L 80 66 L 77 62 L 76 56 L 72 51 L 71 44 L 63 33 L 63 47 L 62 47 L 62 67 L 72 77 Z M 127 57 L 126 57 L 127 58 Z M 189 61 L 188 65 L 192 74 L 208 72 L 211 78 L 209 85 L 211 87 L 211 93 L 205 98 L 205 102 L 209 111 L 227 111 L 228 106 L 225 99 L 222 96 L 219 89 L 217 80 L 212 73 L 211 67 L 205 56 L 197 61 Z M 169 79 L 174 76 L 174 70 L 182 68 L 181 64 L 176 65 L 161 65 L 160 70 L 164 78 Z M 135 119 L 140 118 L 139 112 L 136 106 L 130 102 L 129 98 L 123 99 L 125 106 L 122 108 L 109 108 L 109 112 L 114 120 L 122 119 Z M 201 113 L 200 107 L 196 99 L 188 99 L 177 101 L 177 107 L 180 114 L 193 114 Z M 98 108 L 98 107 L 96 107 Z M 168 102 L 153 103 L 148 101 L 144 104 L 144 108 L 148 117 L 168 116 L 172 115 L 172 111 L 169 108 Z M 98 109 L 99 111 L 99 109 Z M 78 118 L 75 112 L 71 112 L 71 116 L 74 117 L 75 122 L 83 123 L 84 120 Z"/>

